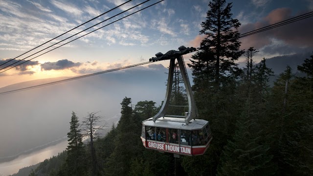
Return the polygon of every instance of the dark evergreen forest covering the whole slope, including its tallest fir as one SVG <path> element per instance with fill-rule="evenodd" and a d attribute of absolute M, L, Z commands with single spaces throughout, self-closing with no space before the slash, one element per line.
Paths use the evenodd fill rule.
<path fill-rule="evenodd" d="M 303 58 L 297 70 L 287 66 L 269 87 L 274 72 L 266 60 L 254 65 L 256 49 L 239 49 L 240 22 L 231 17 L 231 3 L 212 0 L 209 7 L 201 24 L 207 36 L 203 49 L 189 65 L 199 118 L 210 122 L 213 135 L 204 155 L 174 158 L 145 149 L 141 122 L 158 108 L 153 101 L 132 106 L 125 97 L 118 124 L 88 144 L 82 144 L 81 122 L 73 112 L 67 152 L 58 156 L 63 160 L 45 173 L 41 164 L 30 176 L 312 176 L 313 56 Z M 235 63 L 241 56 L 243 69 Z M 305 76 L 295 77 L 295 71 Z M 172 93 L 185 101 L 179 87 Z M 90 113 L 88 118 L 91 122 Z"/>

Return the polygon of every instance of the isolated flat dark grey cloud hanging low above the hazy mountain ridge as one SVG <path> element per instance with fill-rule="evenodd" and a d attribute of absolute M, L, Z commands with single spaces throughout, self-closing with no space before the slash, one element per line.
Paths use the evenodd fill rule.
<path fill-rule="evenodd" d="M 82 65 L 81 63 L 74 63 L 72 61 L 68 61 L 67 59 L 64 60 L 59 60 L 57 62 L 46 62 L 44 64 L 41 64 L 41 69 L 42 70 L 62 70 L 62 69 L 67 69 L 71 67 L 77 67 Z"/>

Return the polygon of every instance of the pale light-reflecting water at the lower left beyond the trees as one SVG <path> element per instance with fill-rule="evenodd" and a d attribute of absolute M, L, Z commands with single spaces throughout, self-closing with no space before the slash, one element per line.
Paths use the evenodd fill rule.
<path fill-rule="evenodd" d="M 46 147 L 30 154 L 20 155 L 12 161 L 0 163 L 0 176 L 8 176 L 19 172 L 19 169 L 43 162 L 52 156 L 58 155 L 67 148 L 67 140 L 64 140 L 56 145 Z"/>

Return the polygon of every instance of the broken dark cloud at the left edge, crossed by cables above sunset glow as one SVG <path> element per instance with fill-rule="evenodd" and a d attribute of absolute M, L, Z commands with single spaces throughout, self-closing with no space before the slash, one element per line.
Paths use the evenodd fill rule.
<path fill-rule="evenodd" d="M 11 59 L 0 60 L 0 65 L 6 63 L 6 62 L 9 61 L 9 60 L 11 60 Z M 0 68 L 4 68 L 4 67 L 6 67 L 6 66 L 9 66 L 9 67 L 7 67 L 7 68 L 4 68 L 4 69 L 1 70 L 1 71 L 4 71 L 5 69 L 10 68 L 10 67 L 11 67 L 10 65 L 11 65 L 11 64 L 14 64 L 14 63 L 16 63 L 16 62 L 18 62 L 18 63 L 15 64 L 15 65 L 18 65 L 18 64 L 23 63 L 24 61 L 21 61 L 20 59 L 14 59 L 14 60 L 12 60 L 12 61 L 10 61 L 10 62 L 8 62 L 8 63 L 6 63 L 6 64 L 0 66 Z M 26 71 L 29 70 L 29 67 L 28 67 L 28 66 L 36 66 L 36 65 L 38 65 L 38 64 L 39 64 L 38 61 L 28 61 L 28 62 L 25 62 L 25 63 L 21 64 L 20 66 L 16 66 L 15 69 L 18 70 L 18 71 L 24 72 L 24 73 L 20 73 L 20 74 L 32 74 L 33 72 L 32 72 L 32 73 L 31 73 L 31 72 L 26 72 Z M 15 66 L 15 65 L 12 65 L 12 66 Z"/>

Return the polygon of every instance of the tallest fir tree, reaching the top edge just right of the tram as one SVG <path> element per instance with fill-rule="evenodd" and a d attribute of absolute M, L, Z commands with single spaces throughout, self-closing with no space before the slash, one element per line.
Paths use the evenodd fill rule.
<path fill-rule="evenodd" d="M 235 120 L 242 108 L 236 97 L 237 78 L 242 71 L 235 61 L 244 51 L 240 50 L 240 22 L 232 18 L 232 3 L 212 0 L 208 6 L 200 31 L 205 37 L 201 42 L 202 49 L 192 56 L 189 66 L 194 76 L 193 90 L 200 118 L 210 122 L 214 140 L 208 154 L 201 156 L 201 160 L 208 161 L 201 172 L 215 175 L 222 149 L 234 133 Z M 199 159 L 183 160 L 186 167 L 196 165 Z"/>

